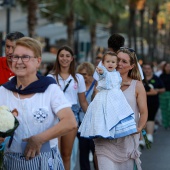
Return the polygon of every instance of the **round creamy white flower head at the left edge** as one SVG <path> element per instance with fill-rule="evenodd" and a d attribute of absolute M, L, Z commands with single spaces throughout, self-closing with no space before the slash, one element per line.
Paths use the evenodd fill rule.
<path fill-rule="evenodd" d="M 0 132 L 14 128 L 15 118 L 7 106 L 0 106 Z"/>

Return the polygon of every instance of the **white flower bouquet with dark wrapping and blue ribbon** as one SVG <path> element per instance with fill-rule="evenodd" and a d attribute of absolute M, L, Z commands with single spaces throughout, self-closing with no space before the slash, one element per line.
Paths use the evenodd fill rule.
<path fill-rule="evenodd" d="M 0 106 L 0 137 L 6 138 L 13 136 L 14 131 L 18 126 L 18 120 L 14 117 L 13 113 L 10 112 L 8 107 Z M 3 156 L 7 140 L 8 138 L 6 138 L 4 142 L 0 143 L 0 170 L 5 170 Z"/>

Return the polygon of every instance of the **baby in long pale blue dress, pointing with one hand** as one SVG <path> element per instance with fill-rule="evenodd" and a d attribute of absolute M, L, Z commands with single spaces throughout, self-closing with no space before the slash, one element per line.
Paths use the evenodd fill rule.
<path fill-rule="evenodd" d="M 115 139 L 137 132 L 134 112 L 120 89 L 122 78 L 116 67 L 117 54 L 106 52 L 96 68 L 99 92 L 78 130 L 82 137 Z"/>

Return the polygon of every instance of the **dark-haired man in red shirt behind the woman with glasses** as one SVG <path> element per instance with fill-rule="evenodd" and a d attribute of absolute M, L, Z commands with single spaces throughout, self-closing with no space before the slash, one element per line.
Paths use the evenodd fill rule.
<path fill-rule="evenodd" d="M 0 85 L 6 83 L 10 77 L 14 76 L 11 67 L 11 56 L 13 55 L 15 42 L 24 37 L 21 32 L 13 32 L 6 35 L 5 38 L 5 57 L 0 57 Z"/>

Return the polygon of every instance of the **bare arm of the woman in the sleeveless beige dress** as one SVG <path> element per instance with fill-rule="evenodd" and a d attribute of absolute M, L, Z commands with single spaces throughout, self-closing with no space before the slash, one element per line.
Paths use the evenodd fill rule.
<path fill-rule="evenodd" d="M 140 118 L 138 122 L 138 132 L 145 127 L 148 119 L 148 108 L 147 108 L 147 98 L 146 91 L 142 82 L 138 81 L 136 84 L 136 100 L 139 108 Z"/>

